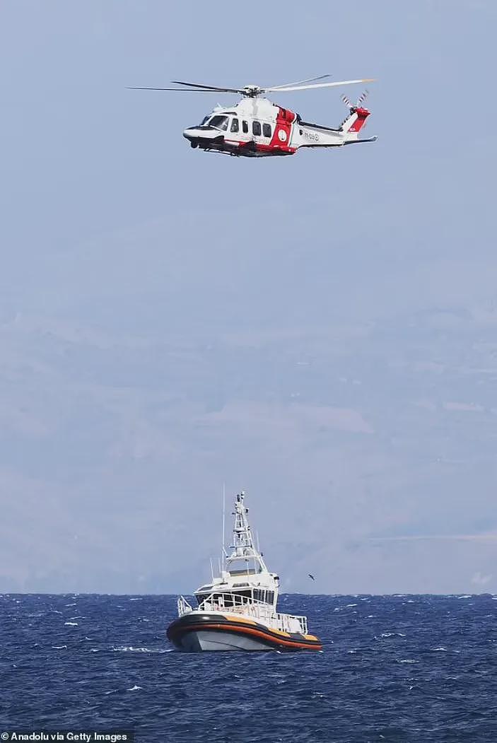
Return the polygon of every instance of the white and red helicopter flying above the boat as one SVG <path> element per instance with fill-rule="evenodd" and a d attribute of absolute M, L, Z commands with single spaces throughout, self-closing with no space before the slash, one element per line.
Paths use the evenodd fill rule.
<path fill-rule="evenodd" d="M 190 146 L 207 152 L 222 152 L 226 155 L 246 158 L 273 157 L 274 155 L 294 155 L 302 147 L 342 147 L 345 144 L 374 142 L 377 137 L 360 139 L 359 132 L 369 116 L 367 108 L 361 105 L 368 91 L 351 103 L 342 96 L 348 106 L 348 116 L 338 129 L 320 126 L 303 121 L 299 114 L 282 108 L 264 97 L 265 93 L 285 93 L 288 91 L 310 90 L 311 88 L 336 88 L 339 85 L 354 85 L 373 80 L 342 80 L 340 82 L 318 82 L 330 75 L 321 75 L 309 80 L 260 88 L 259 85 L 245 85 L 244 88 L 220 88 L 215 85 L 200 85 L 196 82 L 172 80 L 183 88 L 132 88 L 133 90 L 178 91 L 189 93 L 238 93 L 243 98 L 234 106 L 216 106 L 198 126 L 185 129 L 183 137 Z M 314 83 L 308 85 L 307 83 Z"/>

